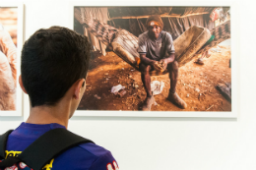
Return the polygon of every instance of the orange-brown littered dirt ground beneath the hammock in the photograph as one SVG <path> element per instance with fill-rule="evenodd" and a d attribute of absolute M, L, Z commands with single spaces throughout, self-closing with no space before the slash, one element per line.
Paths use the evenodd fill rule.
<path fill-rule="evenodd" d="M 185 100 L 188 107 L 180 109 L 165 98 L 168 95 L 168 75 L 152 76 L 152 81 L 164 82 L 159 95 L 155 95 L 158 105 L 153 111 L 231 111 L 231 104 L 216 89 L 216 85 L 231 82 L 229 68 L 230 47 L 219 45 L 212 49 L 210 58 L 205 58 L 204 65 L 193 61 L 179 68 L 176 92 Z M 141 110 L 146 92 L 141 81 L 141 74 L 119 58 L 114 52 L 106 56 L 94 52 L 87 78 L 87 89 L 79 105 L 79 110 Z M 127 93 L 118 97 L 110 92 L 114 85 L 126 86 Z M 135 87 L 138 86 L 138 87 Z"/>

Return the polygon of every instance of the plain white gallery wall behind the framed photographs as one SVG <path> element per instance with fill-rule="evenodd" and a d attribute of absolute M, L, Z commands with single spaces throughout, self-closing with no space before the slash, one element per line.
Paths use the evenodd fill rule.
<path fill-rule="evenodd" d="M 69 2 L 20 1 L 25 4 L 24 38 L 38 28 L 69 26 Z M 85 1 L 84 1 L 85 2 Z M 102 5 L 102 3 L 93 3 Z M 147 5 L 129 1 L 129 5 Z M 158 2 L 161 2 L 160 4 Z M 171 1 L 152 2 L 173 5 Z M 188 1 L 187 1 L 188 2 Z M 208 2 L 214 3 L 212 0 Z M 238 2 L 237 25 L 239 115 L 237 119 L 212 118 L 94 118 L 75 117 L 69 130 L 111 150 L 123 170 L 253 170 L 256 169 L 255 4 Z M 92 3 L 92 2 L 91 2 Z M 109 5 L 125 5 L 111 1 Z M 104 2 L 104 5 L 107 5 Z M 198 4 L 200 5 L 200 3 Z M 28 98 L 25 100 L 28 103 Z M 24 117 L 0 117 L 0 133 L 26 121 Z"/>

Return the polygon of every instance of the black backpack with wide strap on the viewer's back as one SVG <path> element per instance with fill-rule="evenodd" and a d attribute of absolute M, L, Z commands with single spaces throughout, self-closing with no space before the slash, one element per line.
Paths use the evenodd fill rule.
<path fill-rule="evenodd" d="M 80 143 L 92 142 L 66 129 L 50 130 L 32 142 L 17 157 L 5 159 L 5 148 L 10 130 L 0 136 L 0 170 L 41 170 L 52 158 Z M 93 142 L 94 143 L 94 142 Z"/>

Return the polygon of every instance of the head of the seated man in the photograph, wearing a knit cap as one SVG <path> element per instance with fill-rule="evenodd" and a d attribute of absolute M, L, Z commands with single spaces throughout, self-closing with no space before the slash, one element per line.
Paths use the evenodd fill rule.
<path fill-rule="evenodd" d="M 160 35 L 160 31 L 163 28 L 163 23 L 160 19 L 160 16 L 153 15 L 148 18 L 146 22 L 147 28 L 149 29 L 150 36 L 152 38 L 158 38 Z"/>

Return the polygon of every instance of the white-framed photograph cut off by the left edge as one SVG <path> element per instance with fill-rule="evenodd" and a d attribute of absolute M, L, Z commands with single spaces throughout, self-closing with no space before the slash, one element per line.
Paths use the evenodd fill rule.
<path fill-rule="evenodd" d="M 22 116 L 19 87 L 23 45 L 22 3 L 0 2 L 0 116 Z"/>

